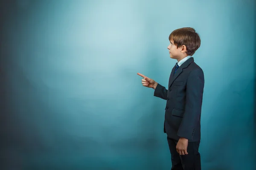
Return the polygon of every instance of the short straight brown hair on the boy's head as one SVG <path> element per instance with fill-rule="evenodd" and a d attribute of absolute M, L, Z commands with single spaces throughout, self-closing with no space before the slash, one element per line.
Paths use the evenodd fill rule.
<path fill-rule="evenodd" d="M 179 48 L 182 45 L 186 46 L 186 54 L 192 56 L 200 47 L 201 40 L 194 28 L 186 27 L 179 28 L 169 35 L 169 41 L 173 40 L 174 44 Z"/>

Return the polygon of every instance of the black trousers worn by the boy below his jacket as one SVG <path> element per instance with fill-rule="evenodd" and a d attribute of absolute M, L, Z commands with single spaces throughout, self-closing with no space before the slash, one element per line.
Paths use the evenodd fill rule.
<path fill-rule="evenodd" d="M 178 141 L 168 137 L 167 141 L 172 159 L 171 170 L 201 170 L 201 156 L 198 152 L 200 141 L 188 143 L 187 155 L 179 155 L 177 153 L 176 145 Z"/>

